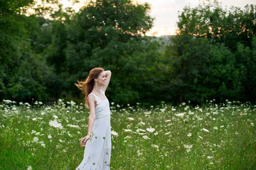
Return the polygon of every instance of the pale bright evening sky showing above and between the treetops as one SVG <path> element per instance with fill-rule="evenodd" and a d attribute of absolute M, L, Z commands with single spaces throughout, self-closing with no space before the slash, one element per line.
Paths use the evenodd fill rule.
<path fill-rule="evenodd" d="M 154 17 L 154 26 L 148 32 L 148 36 L 152 35 L 160 37 L 162 35 L 174 35 L 177 28 L 178 11 L 182 11 L 184 6 L 198 6 L 200 0 L 137 0 L 140 3 L 148 2 L 151 4 L 151 17 Z M 74 8 L 77 10 L 83 6 L 86 0 L 80 0 Z M 70 6 L 69 0 L 61 0 L 63 7 Z M 244 7 L 246 4 L 255 4 L 256 0 L 221 0 L 221 6 L 230 8 L 230 6 Z"/>

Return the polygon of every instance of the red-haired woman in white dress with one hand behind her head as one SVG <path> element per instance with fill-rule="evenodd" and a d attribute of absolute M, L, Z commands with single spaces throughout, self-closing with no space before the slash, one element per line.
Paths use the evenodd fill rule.
<path fill-rule="evenodd" d="M 110 108 L 105 91 L 111 71 L 93 68 L 84 82 L 75 85 L 85 94 L 85 104 L 90 109 L 88 133 L 81 139 L 84 159 L 76 170 L 109 170 L 111 157 Z"/>

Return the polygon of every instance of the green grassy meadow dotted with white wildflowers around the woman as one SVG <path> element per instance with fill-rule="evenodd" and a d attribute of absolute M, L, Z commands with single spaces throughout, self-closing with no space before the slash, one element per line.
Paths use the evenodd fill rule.
<path fill-rule="evenodd" d="M 4 100 L 0 104 L 1 170 L 74 170 L 89 111 L 82 103 Z M 145 109 L 111 103 L 111 170 L 256 169 L 256 105 L 207 101 Z"/>

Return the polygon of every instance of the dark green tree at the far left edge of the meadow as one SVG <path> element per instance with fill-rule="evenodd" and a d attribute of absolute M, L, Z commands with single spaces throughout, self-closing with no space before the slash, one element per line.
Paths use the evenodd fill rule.
<path fill-rule="evenodd" d="M 0 99 L 43 100 L 46 63 L 41 55 L 33 54 L 26 24 L 35 20 L 21 15 L 33 2 L 0 1 Z"/>

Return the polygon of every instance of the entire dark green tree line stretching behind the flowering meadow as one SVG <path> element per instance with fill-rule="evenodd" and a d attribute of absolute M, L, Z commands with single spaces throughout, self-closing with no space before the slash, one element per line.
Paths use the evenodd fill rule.
<path fill-rule="evenodd" d="M 97 0 L 75 12 L 43 2 L 59 10 L 0 0 L 1 101 L 82 102 L 74 83 L 95 67 L 111 70 L 107 95 L 124 105 L 256 97 L 256 5 L 186 6 L 166 43 L 145 36 L 154 22 L 148 3 Z"/>

